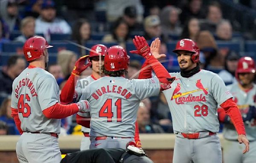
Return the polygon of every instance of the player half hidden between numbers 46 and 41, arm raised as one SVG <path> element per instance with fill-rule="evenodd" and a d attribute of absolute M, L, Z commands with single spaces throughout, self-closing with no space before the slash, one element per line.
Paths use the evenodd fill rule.
<path fill-rule="evenodd" d="M 107 47 L 102 44 L 97 44 L 97 45 L 94 45 L 91 48 L 91 50 L 92 51 L 90 51 L 89 59 L 92 64 L 90 66 L 92 68 L 92 74 L 90 76 L 87 76 L 86 78 L 80 79 L 76 82 L 76 79 L 78 79 L 80 73 L 83 72 L 86 68 L 86 66 L 84 66 L 84 64 L 86 62 L 86 58 L 81 57 L 76 62 L 76 69 L 79 69 L 79 70 L 77 70 L 76 74 L 72 73 L 70 75 L 69 79 L 67 80 L 63 89 L 61 90 L 61 95 L 60 95 L 61 104 L 70 104 L 71 102 L 79 101 L 79 99 L 83 93 L 83 89 L 85 89 L 85 87 L 87 85 L 89 85 L 91 82 L 101 78 L 101 74 L 99 73 L 99 67 L 100 67 L 100 65 L 103 65 L 104 56 L 107 51 Z M 76 87 L 74 87 L 75 83 L 76 83 Z M 71 89 L 73 89 L 73 90 L 71 90 Z M 75 89 L 75 92 L 74 92 L 74 89 Z M 79 117 L 79 115 L 77 115 L 76 119 L 79 123 L 79 120 L 81 119 L 81 117 Z M 80 150 L 89 149 L 90 128 L 86 128 L 86 127 L 82 126 L 81 131 L 83 132 L 84 137 L 81 140 Z"/>

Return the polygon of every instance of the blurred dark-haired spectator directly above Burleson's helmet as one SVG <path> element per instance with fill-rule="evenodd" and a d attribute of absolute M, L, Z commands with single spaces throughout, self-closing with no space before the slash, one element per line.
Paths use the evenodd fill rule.
<path fill-rule="evenodd" d="M 128 24 L 122 20 L 117 20 L 111 28 L 111 34 L 107 34 L 103 37 L 103 42 L 117 42 L 118 45 L 125 48 L 125 43 L 129 39 L 129 27 Z"/>

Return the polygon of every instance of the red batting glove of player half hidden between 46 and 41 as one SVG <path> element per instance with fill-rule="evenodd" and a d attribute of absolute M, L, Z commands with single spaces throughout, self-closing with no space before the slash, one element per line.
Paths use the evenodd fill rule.
<path fill-rule="evenodd" d="M 85 69 L 87 69 L 87 67 L 89 67 L 90 65 L 92 65 L 91 62 L 87 63 L 86 65 L 84 65 L 86 59 L 89 58 L 89 55 L 86 55 L 86 56 L 82 56 L 80 57 L 77 61 L 76 61 L 76 64 L 75 64 L 75 67 L 72 71 L 72 73 L 74 75 L 80 75 L 81 72 L 83 72 Z"/>

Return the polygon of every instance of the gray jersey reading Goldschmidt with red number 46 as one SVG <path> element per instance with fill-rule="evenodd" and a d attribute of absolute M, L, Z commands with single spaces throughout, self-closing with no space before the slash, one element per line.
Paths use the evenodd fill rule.
<path fill-rule="evenodd" d="M 60 133 L 61 120 L 49 119 L 42 112 L 57 102 L 58 84 L 42 68 L 26 68 L 12 83 L 11 107 L 18 109 L 24 132 Z"/>

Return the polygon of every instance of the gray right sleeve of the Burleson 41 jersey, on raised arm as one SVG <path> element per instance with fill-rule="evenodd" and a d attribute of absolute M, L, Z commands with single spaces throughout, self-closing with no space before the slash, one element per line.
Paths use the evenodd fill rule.
<path fill-rule="evenodd" d="M 150 79 L 132 79 L 135 85 L 135 93 L 140 100 L 151 96 L 157 96 L 160 92 L 160 82 L 156 77 Z"/>

